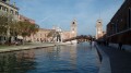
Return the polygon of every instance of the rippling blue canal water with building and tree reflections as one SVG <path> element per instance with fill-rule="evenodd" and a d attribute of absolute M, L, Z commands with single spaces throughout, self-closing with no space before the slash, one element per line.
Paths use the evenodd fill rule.
<path fill-rule="evenodd" d="M 0 53 L 0 73 L 98 73 L 88 42 Z"/>

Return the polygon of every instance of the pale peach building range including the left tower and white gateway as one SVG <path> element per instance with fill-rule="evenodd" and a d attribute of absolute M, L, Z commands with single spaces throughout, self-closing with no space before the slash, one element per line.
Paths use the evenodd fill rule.
<path fill-rule="evenodd" d="M 71 22 L 71 29 L 70 31 L 62 31 L 58 26 L 53 26 L 52 29 L 40 28 L 36 34 L 32 35 L 26 40 L 40 41 L 40 42 L 52 41 L 53 38 L 52 37 L 48 37 L 48 34 L 50 32 L 55 31 L 55 32 L 59 32 L 59 36 L 60 36 L 61 41 L 62 41 L 64 39 L 76 37 L 76 25 L 78 25 L 78 23 L 74 20 L 73 22 Z M 53 40 L 53 41 L 57 41 L 57 40 Z"/>

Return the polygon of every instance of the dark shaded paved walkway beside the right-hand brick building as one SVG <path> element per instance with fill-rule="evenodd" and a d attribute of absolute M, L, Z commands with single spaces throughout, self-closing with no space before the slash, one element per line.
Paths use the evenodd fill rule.
<path fill-rule="evenodd" d="M 106 46 L 99 48 L 109 57 L 111 73 L 131 73 L 131 52 Z"/>

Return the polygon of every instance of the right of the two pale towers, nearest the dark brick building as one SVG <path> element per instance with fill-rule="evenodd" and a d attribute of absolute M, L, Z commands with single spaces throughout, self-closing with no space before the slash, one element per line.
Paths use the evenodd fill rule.
<path fill-rule="evenodd" d="M 103 21 L 97 20 L 96 22 L 96 39 L 103 37 Z"/>

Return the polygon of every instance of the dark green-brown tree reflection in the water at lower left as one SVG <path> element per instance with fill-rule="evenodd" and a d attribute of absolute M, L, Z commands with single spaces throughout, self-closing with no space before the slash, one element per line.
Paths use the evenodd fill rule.
<path fill-rule="evenodd" d="M 34 51 L 17 51 L 0 54 L 0 73 L 26 73 L 35 69 Z"/>

